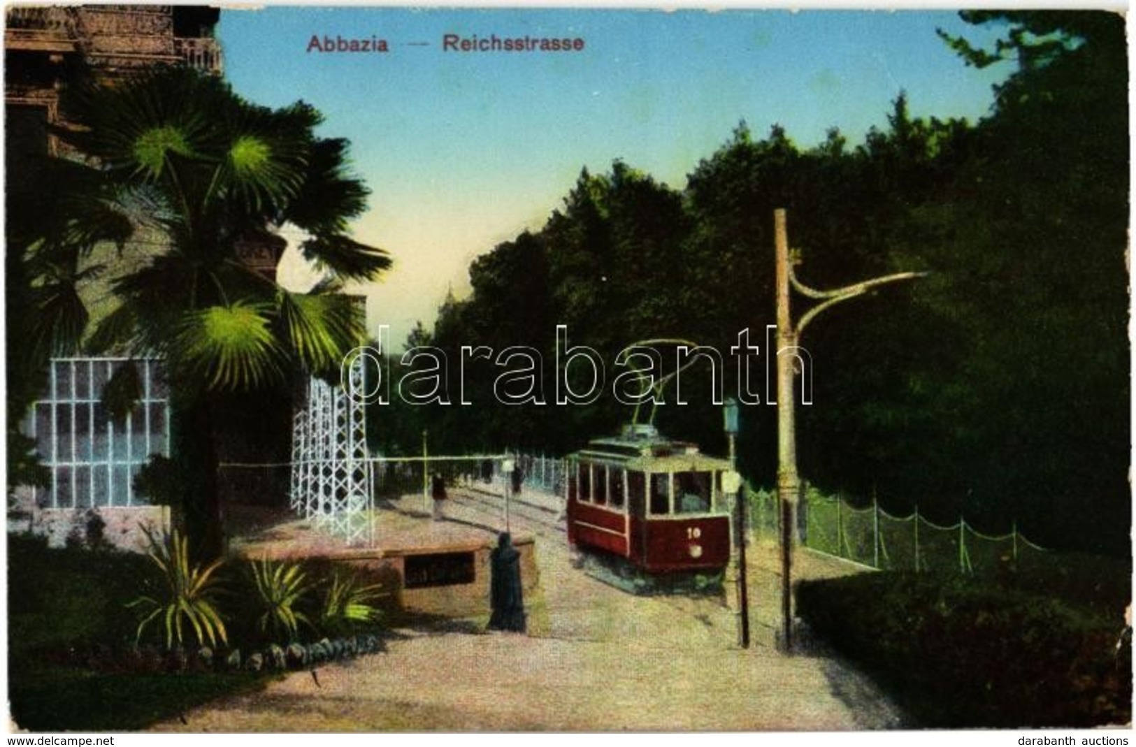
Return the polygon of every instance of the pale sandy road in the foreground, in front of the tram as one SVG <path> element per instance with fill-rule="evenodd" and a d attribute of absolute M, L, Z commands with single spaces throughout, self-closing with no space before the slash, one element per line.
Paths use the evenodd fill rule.
<path fill-rule="evenodd" d="M 476 521 L 473 509 L 462 517 Z M 456 517 L 457 518 L 457 517 Z M 529 636 L 483 621 L 396 630 L 389 652 L 323 666 L 214 703 L 158 731 L 797 731 L 888 729 L 896 708 L 816 649 L 771 646 L 775 548 L 751 553 L 754 638 L 736 646 L 720 599 L 638 597 L 573 568 L 563 535 L 540 527 L 541 595 Z M 801 554 L 802 576 L 849 568 Z"/>

